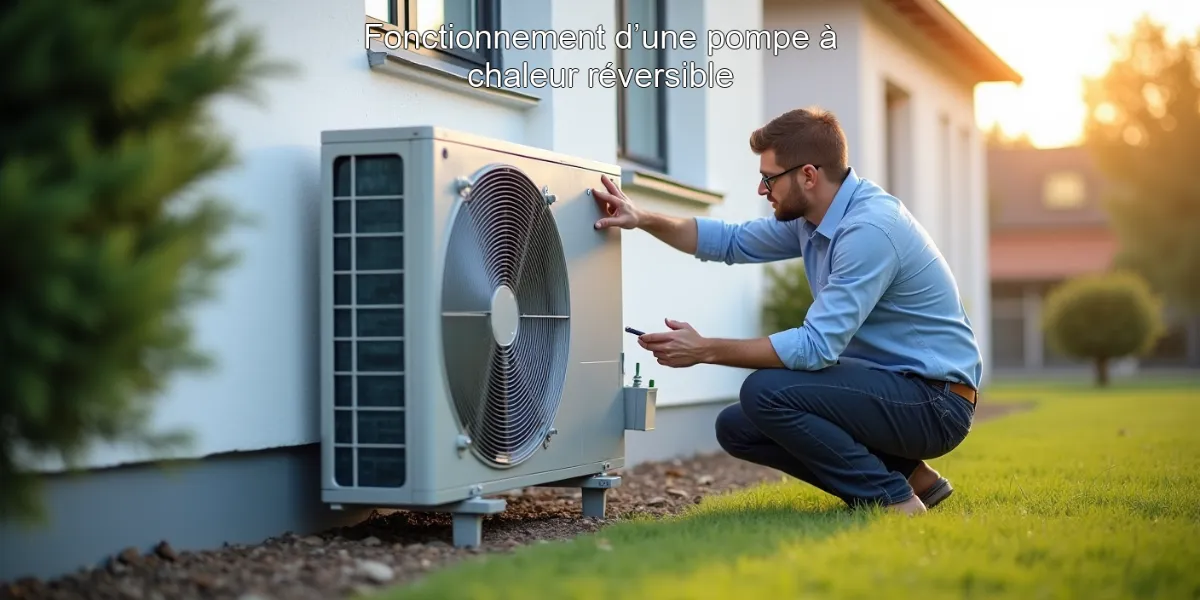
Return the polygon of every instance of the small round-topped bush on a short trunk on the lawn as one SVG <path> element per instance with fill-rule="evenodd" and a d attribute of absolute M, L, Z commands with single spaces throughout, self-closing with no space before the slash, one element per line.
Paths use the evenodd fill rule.
<path fill-rule="evenodd" d="M 1109 384 L 1109 364 L 1150 350 L 1164 331 L 1162 306 L 1146 281 L 1129 271 L 1085 275 L 1046 296 L 1043 328 L 1058 352 L 1096 365 Z"/>

